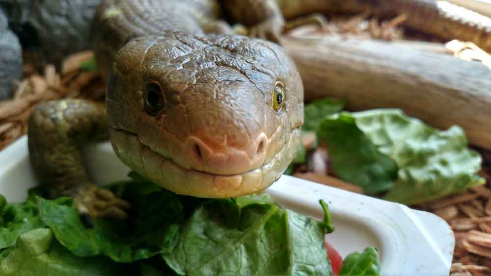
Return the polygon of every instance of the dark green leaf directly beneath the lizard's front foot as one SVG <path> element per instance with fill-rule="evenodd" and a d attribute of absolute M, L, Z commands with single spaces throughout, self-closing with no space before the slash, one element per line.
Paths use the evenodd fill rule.
<path fill-rule="evenodd" d="M 137 184 L 132 187 L 123 196 L 128 199 L 128 193 L 132 197 L 130 202 L 136 210 L 130 214 L 134 220 L 129 222 L 94 220 L 94 227 L 87 228 L 73 201 L 59 204 L 38 197 L 41 220 L 61 244 L 81 257 L 103 254 L 117 262 L 133 262 L 171 251 L 183 221 L 183 207 L 177 196 L 163 189 L 147 194 L 148 187 L 138 194 Z"/>

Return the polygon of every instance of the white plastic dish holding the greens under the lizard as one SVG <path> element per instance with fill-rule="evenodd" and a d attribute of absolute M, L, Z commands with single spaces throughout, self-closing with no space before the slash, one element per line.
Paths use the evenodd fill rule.
<path fill-rule="evenodd" d="M 90 175 L 97 183 L 127 179 L 129 168 L 109 142 L 84 149 Z M 0 193 L 8 201 L 23 201 L 37 184 L 24 136 L 0 152 Z M 322 219 L 324 199 L 335 227 L 328 240 L 344 257 L 375 246 L 380 251 L 382 275 L 449 275 L 455 239 L 439 217 L 405 205 L 358 195 L 292 176 L 282 176 L 266 190 L 282 206 Z"/>

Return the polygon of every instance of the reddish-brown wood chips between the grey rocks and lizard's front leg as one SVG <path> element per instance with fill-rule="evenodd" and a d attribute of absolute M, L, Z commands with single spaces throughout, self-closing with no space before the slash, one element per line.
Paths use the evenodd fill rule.
<path fill-rule="evenodd" d="M 25 78 L 17 83 L 12 100 L 0 101 L 0 150 L 27 133 L 27 121 L 35 106 L 46 100 L 83 98 L 102 100 L 105 86 L 99 72 L 83 71 L 81 65 L 93 57 L 91 51 L 71 55 L 65 59 L 61 70 L 44 66 L 43 74 L 35 64 L 24 66 Z"/>

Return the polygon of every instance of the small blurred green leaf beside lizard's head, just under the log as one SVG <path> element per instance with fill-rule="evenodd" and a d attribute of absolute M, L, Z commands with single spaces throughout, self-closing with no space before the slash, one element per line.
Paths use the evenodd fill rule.
<path fill-rule="evenodd" d="M 314 100 L 304 107 L 304 122 L 302 130 L 317 131 L 322 121 L 330 115 L 343 110 L 346 100 L 334 100 L 325 98 L 322 100 Z"/>

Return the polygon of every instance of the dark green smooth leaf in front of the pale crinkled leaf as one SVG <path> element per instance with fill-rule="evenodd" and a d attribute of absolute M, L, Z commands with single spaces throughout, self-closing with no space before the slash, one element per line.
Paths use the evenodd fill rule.
<path fill-rule="evenodd" d="M 317 137 L 327 141 L 331 166 L 339 178 L 361 186 L 367 194 L 392 188 L 397 177 L 396 162 L 378 151 L 349 113 L 324 119 Z"/>

